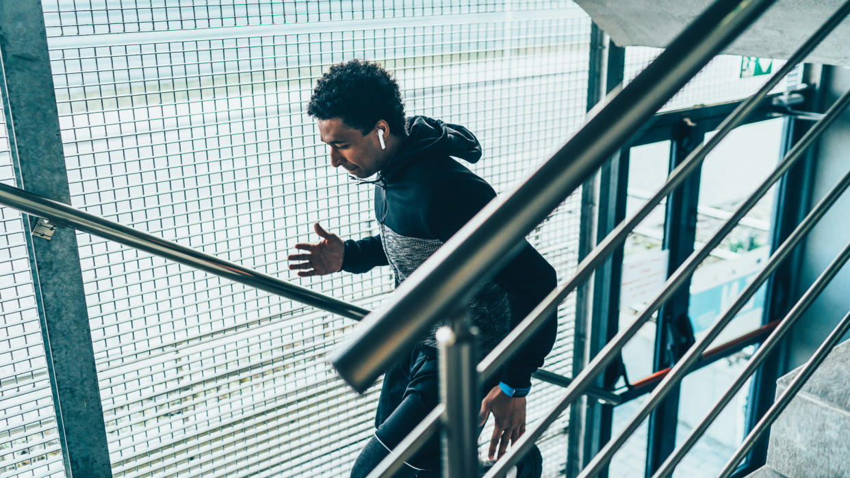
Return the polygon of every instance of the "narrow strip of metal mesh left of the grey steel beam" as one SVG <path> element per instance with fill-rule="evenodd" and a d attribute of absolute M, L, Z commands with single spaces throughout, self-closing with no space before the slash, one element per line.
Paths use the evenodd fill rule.
<path fill-rule="evenodd" d="M 0 183 L 14 177 L 0 114 Z M 25 233 L 0 206 L 0 476 L 65 476 Z"/>

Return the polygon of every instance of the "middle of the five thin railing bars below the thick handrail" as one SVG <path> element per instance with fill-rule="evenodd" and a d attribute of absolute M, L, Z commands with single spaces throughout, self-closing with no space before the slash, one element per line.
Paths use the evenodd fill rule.
<path fill-rule="evenodd" d="M 676 365 L 670 370 L 670 374 L 667 374 L 664 380 L 661 380 L 660 384 L 655 387 L 655 391 L 652 392 L 649 399 L 644 402 L 643 407 L 638 410 L 638 413 L 635 414 L 634 418 L 632 418 L 632 420 L 620 432 L 620 435 L 605 444 L 603 449 L 595 457 L 593 457 L 590 464 L 587 464 L 585 470 L 581 471 L 579 478 L 595 476 L 603 470 L 610 459 L 614 456 L 614 453 L 616 453 L 617 450 L 626 443 L 628 437 L 632 436 L 632 433 L 634 433 L 635 430 L 638 430 L 638 426 L 643 422 L 643 419 L 649 416 L 649 413 L 651 413 L 652 410 L 660 404 L 667 393 L 672 391 L 673 387 L 675 387 L 678 382 L 682 380 L 686 374 L 688 374 L 689 368 L 699 359 L 702 352 L 711 345 L 713 340 L 717 339 L 717 335 L 720 335 L 723 328 L 725 328 L 726 325 L 732 321 L 735 315 L 740 312 L 746 302 L 750 301 L 751 297 L 756 294 L 764 281 L 766 281 L 768 277 L 776 271 L 779 264 L 791 254 L 791 251 L 796 247 L 796 245 L 802 242 L 803 239 L 806 239 L 807 234 L 814 228 L 815 225 L 817 225 L 820 218 L 826 214 L 826 211 L 829 210 L 830 206 L 835 204 L 838 198 L 841 197 L 848 185 L 850 185 L 850 172 L 847 172 L 847 175 L 842 177 L 842 180 L 837 183 L 836 186 L 832 188 L 817 205 L 814 206 L 813 210 L 808 213 L 802 222 L 800 222 L 800 224 L 794 229 L 791 235 L 788 236 L 788 239 L 786 239 L 785 242 L 779 246 L 779 249 L 770 256 L 770 259 L 764 265 L 762 271 L 752 279 L 750 284 L 747 284 L 744 291 L 741 292 L 732 305 L 728 306 L 726 311 L 723 312 L 723 315 L 717 319 L 717 322 L 714 323 L 714 325 L 711 326 L 711 329 L 708 329 L 706 335 L 704 335 L 700 340 L 697 340 L 697 342 L 688 349 L 684 356 L 678 360 Z"/>

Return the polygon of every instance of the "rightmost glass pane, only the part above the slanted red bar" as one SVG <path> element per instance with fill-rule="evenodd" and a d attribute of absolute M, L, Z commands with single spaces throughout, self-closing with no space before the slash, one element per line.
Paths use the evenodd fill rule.
<path fill-rule="evenodd" d="M 773 171 L 779 161 L 781 119 L 736 128 L 708 155 L 700 178 L 696 248 L 717 231 L 738 206 Z M 711 134 L 706 135 L 711 138 Z M 732 305 L 768 259 L 774 188 L 700 264 L 690 286 L 689 316 L 699 338 Z M 716 344 L 757 329 L 762 321 L 762 286 Z"/>

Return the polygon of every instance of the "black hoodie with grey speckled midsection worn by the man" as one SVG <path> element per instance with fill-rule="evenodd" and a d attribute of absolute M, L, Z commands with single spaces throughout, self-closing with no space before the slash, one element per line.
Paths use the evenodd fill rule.
<path fill-rule="evenodd" d="M 343 270 L 351 273 L 389 264 L 396 286 L 496 197 L 490 184 L 452 159 L 474 163 L 481 158 L 473 133 L 424 116 L 408 118 L 407 130 L 399 153 L 375 182 L 381 233 L 345 241 L 343 261 Z M 527 241 L 523 243 L 513 260 L 481 285 L 468 303 L 480 329 L 481 357 L 556 286 L 553 267 Z M 424 340 L 426 346 L 436 346 L 433 330 Z M 513 388 L 529 387 L 531 374 L 552 350 L 556 331 L 553 317 L 508 362 L 500 380 Z"/>

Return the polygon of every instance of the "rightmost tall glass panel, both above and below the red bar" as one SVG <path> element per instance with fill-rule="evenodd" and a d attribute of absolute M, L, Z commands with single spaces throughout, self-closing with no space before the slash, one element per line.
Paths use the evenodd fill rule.
<path fill-rule="evenodd" d="M 773 171 L 779 160 L 782 123 L 783 120 L 776 119 L 738 127 L 708 155 L 700 178 L 695 247 L 705 244 Z M 707 138 L 711 138 L 711 134 Z M 689 316 L 697 339 L 706 334 L 768 260 L 774 190 L 775 187 L 768 191 L 694 273 Z M 712 345 L 760 327 L 764 301 L 765 286 L 762 286 Z M 755 349 L 755 346 L 746 347 L 685 377 L 679 400 L 677 442 L 684 441 L 690 430 L 700 423 L 740 374 Z M 749 390 L 749 385 L 744 385 L 734 396 L 706 435 L 683 459 L 676 476 L 713 476 L 723 467 L 745 436 Z"/>

